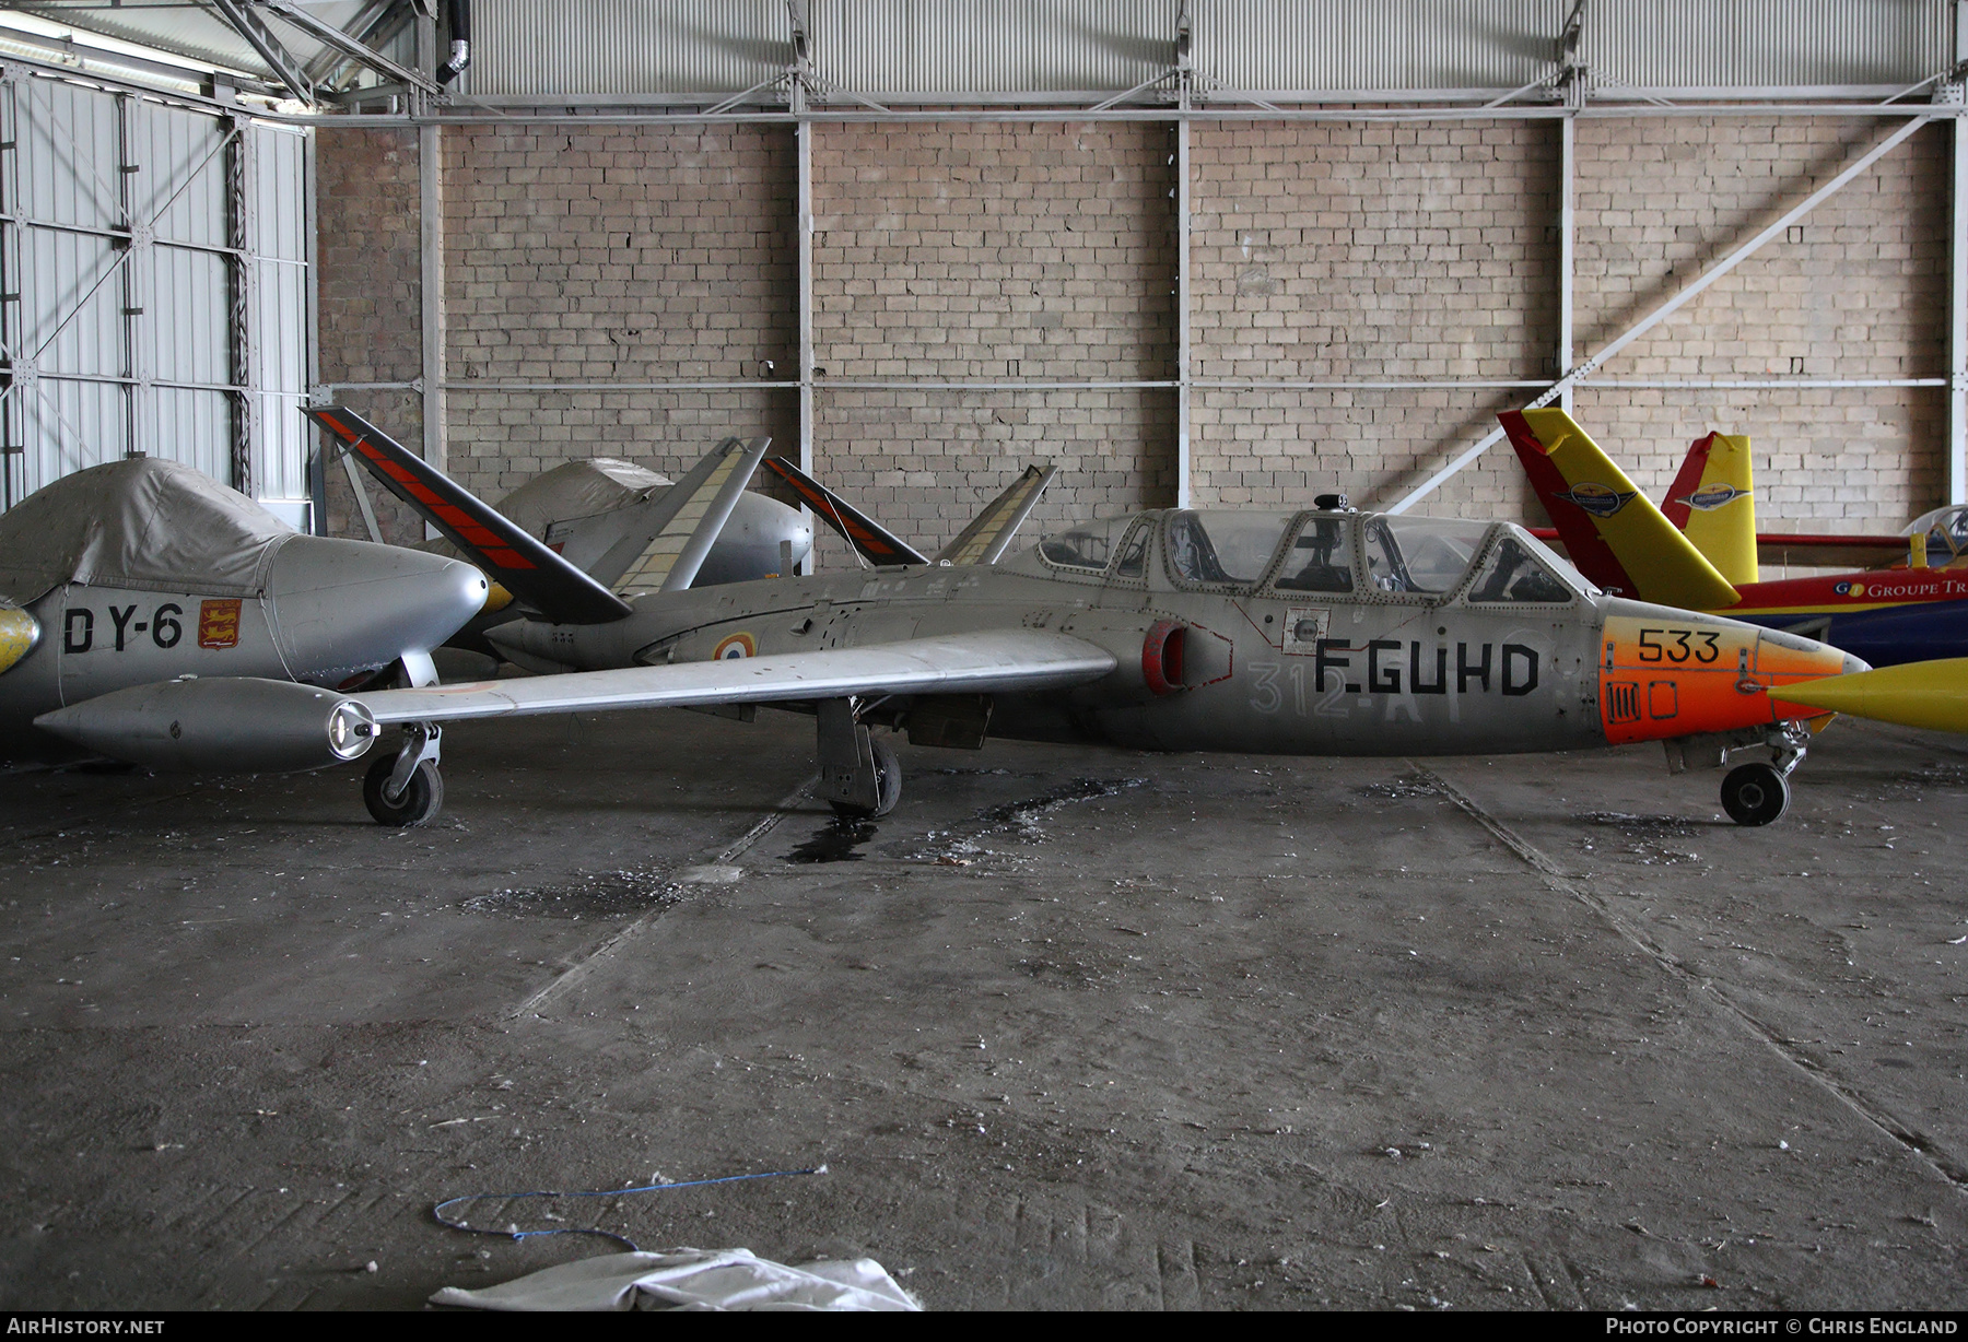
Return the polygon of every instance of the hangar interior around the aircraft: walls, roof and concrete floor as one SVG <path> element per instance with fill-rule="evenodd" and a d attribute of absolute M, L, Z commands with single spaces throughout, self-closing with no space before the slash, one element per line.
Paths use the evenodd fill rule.
<path fill-rule="evenodd" d="M 1968 502 L 1962 10 L 8 4 L 0 506 L 148 455 L 423 539 L 337 401 L 486 498 L 771 435 L 925 551 L 1029 462 L 1025 541 L 1543 523 L 1545 397 L 1895 531 Z M 577 1251 L 441 1196 L 827 1165 L 557 1216 L 931 1307 L 1962 1307 L 1958 740 L 1838 724 L 1783 832 L 1637 746 L 905 748 L 862 832 L 799 720 L 455 736 L 392 836 L 4 777 L 0 1303 L 413 1307 Z"/>

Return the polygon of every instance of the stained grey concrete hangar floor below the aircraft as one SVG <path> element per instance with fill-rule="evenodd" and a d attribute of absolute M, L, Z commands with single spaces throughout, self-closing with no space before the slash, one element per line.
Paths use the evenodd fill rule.
<path fill-rule="evenodd" d="M 439 1198 L 821 1163 L 466 1214 L 933 1309 L 1968 1307 L 1958 742 L 1840 722 L 1767 830 L 1659 750 L 901 756 L 872 834 L 769 712 L 453 728 L 409 832 L 0 775 L 0 1307 L 415 1307 L 610 1251 Z"/>

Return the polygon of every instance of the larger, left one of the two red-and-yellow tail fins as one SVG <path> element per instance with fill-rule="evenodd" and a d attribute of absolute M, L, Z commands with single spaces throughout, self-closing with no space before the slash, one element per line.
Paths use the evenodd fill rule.
<path fill-rule="evenodd" d="M 1572 563 L 1637 600 L 1724 610 L 1736 588 L 1563 409 L 1498 415 Z"/>

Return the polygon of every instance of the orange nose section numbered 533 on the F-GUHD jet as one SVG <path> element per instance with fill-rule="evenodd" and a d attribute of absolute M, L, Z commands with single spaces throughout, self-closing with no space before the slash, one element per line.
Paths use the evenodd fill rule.
<path fill-rule="evenodd" d="M 1864 663 L 1795 634 L 1614 602 L 1600 638 L 1600 718 L 1614 746 L 1816 718 L 1822 708 L 1771 689 L 1848 667 Z"/>

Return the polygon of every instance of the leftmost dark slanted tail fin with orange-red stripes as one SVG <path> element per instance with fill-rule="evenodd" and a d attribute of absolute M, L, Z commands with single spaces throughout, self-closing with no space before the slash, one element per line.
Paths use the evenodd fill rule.
<path fill-rule="evenodd" d="M 443 470 L 346 405 L 307 407 L 378 482 L 409 504 L 508 592 L 559 624 L 606 624 L 628 602 L 522 531 Z"/>

